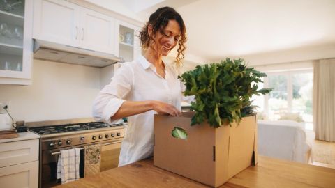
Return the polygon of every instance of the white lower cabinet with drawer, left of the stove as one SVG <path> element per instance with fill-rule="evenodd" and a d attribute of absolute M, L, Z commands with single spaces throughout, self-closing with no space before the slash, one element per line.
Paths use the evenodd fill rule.
<path fill-rule="evenodd" d="M 38 139 L 0 143 L 1 187 L 38 187 L 38 147 Z"/>

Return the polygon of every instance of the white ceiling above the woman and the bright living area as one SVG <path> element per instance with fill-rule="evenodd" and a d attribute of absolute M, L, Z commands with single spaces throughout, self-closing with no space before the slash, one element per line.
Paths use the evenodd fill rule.
<path fill-rule="evenodd" d="M 278 52 L 287 54 L 292 50 L 303 55 L 307 51 L 300 49 L 310 52 L 318 47 L 320 51 L 320 47 L 324 49 L 329 45 L 332 51 L 335 49 L 335 0 L 119 2 L 142 22 L 161 6 L 174 7 L 186 23 L 186 57 L 195 62 Z M 334 53 L 330 56 L 335 57 Z"/>

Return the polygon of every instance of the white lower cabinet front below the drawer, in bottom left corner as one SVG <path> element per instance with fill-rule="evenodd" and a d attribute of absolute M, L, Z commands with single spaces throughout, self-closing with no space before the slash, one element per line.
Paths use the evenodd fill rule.
<path fill-rule="evenodd" d="M 0 168 L 1 187 L 38 187 L 38 161 Z"/>

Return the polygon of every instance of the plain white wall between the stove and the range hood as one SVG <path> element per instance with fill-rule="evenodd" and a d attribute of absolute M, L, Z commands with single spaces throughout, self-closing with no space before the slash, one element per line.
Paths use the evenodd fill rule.
<path fill-rule="evenodd" d="M 100 91 L 100 69 L 34 59 L 33 84 L 0 84 L 0 100 L 10 100 L 15 120 L 40 121 L 91 117 Z"/>

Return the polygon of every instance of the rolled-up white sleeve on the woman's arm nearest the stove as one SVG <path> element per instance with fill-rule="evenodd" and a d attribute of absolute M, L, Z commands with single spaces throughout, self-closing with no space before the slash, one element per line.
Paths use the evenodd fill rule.
<path fill-rule="evenodd" d="M 110 84 L 105 86 L 94 100 L 93 117 L 112 124 L 117 120 L 111 117 L 119 110 L 124 103 L 126 96 L 131 91 L 133 84 L 133 71 L 126 63 L 117 70 Z"/>

